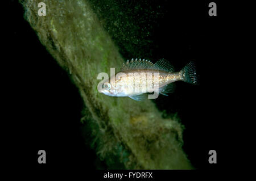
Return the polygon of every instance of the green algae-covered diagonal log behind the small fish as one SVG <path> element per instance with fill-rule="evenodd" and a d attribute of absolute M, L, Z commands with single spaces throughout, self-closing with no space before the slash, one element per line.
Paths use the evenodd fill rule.
<path fill-rule="evenodd" d="M 109 169 L 192 169 L 182 150 L 183 126 L 177 116 L 163 116 L 151 100 L 137 102 L 97 91 L 98 73 L 119 69 L 124 61 L 120 52 L 151 56 L 147 50 L 151 24 L 139 29 L 130 12 L 119 10 L 127 1 L 122 1 L 124 5 L 99 1 L 103 6 L 109 2 L 119 13 L 115 17 L 110 13 L 106 19 L 101 16 L 106 10 L 96 1 L 20 2 L 41 43 L 79 89 L 84 101 L 81 121 L 90 133 L 88 144 Z M 38 16 L 39 2 L 47 5 L 46 16 Z M 136 10 L 141 10 L 139 4 Z"/>

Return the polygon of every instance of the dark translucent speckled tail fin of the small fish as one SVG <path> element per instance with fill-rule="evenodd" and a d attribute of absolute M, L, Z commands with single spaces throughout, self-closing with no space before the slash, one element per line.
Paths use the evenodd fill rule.
<path fill-rule="evenodd" d="M 182 70 L 183 81 L 192 83 L 194 85 L 198 84 L 198 78 L 196 75 L 196 67 L 194 62 L 189 62 Z"/>

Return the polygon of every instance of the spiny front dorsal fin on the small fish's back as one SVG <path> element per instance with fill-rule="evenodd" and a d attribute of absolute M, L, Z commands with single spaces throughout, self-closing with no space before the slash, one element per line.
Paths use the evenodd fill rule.
<path fill-rule="evenodd" d="M 132 58 L 130 61 L 127 60 L 126 64 L 123 63 L 121 67 L 121 71 L 126 70 L 134 70 L 134 69 L 151 69 L 154 67 L 154 64 L 149 60 L 141 60 L 141 58 L 138 60 L 136 58 L 135 60 Z"/>

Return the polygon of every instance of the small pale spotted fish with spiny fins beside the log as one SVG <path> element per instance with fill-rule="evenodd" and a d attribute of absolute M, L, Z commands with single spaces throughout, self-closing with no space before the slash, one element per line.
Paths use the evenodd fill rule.
<path fill-rule="evenodd" d="M 166 95 L 174 91 L 173 82 L 197 83 L 195 65 L 189 62 L 180 71 L 174 72 L 173 66 L 164 59 L 155 64 L 141 59 L 127 60 L 121 71 L 100 85 L 101 93 L 109 96 L 129 96 L 134 100 L 147 98 L 146 93 L 156 91 Z"/>

